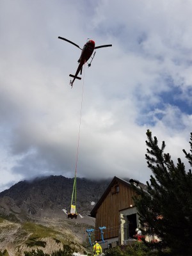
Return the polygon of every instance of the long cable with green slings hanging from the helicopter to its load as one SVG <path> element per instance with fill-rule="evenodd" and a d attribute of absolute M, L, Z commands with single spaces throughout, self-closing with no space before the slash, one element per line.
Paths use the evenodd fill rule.
<path fill-rule="evenodd" d="M 85 64 L 85 62 L 84 62 L 84 64 Z M 85 70 L 85 67 L 84 67 L 84 70 Z M 83 86 L 82 86 L 82 94 L 81 94 L 81 112 L 80 112 L 80 119 L 79 119 L 79 134 L 78 134 L 78 140 L 77 140 L 76 170 L 75 170 L 75 177 L 74 177 L 74 187 L 73 187 L 72 198 L 71 198 L 71 207 L 72 207 L 72 205 L 74 205 L 75 213 L 76 214 L 77 214 L 77 209 L 76 209 L 77 182 L 76 182 L 76 178 L 77 178 L 77 163 L 78 163 L 78 157 L 79 157 L 79 141 L 80 141 L 80 132 L 81 132 L 81 116 L 82 116 L 82 109 L 83 109 L 83 93 L 84 93 L 84 72 L 83 72 Z M 70 213 L 72 213 L 72 212 L 70 212 Z"/>

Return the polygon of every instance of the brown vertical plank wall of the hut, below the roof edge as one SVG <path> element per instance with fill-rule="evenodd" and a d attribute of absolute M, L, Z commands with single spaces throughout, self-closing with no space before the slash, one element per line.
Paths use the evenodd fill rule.
<path fill-rule="evenodd" d="M 116 186 L 119 187 L 118 193 L 114 193 Z M 106 227 L 104 239 L 118 236 L 120 227 L 119 211 L 134 205 L 132 200 L 134 195 L 136 195 L 135 191 L 121 182 L 111 187 L 111 191 L 109 191 L 96 214 L 95 229 L 99 230 L 99 227 Z M 101 239 L 99 231 L 95 232 L 95 239 Z"/>

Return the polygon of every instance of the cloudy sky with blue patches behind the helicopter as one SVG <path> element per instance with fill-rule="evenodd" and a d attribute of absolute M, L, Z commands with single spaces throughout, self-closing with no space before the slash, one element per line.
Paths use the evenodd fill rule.
<path fill-rule="evenodd" d="M 0 191 L 42 175 L 146 182 L 147 129 L 186 163 L 191 0 L 0 1 Z M 92 38 L 92 67 L 71 89 Z M 84 84 L 84 87 L 83 87 Z M 84 88 L 84 89 L 83 89 Z"/>

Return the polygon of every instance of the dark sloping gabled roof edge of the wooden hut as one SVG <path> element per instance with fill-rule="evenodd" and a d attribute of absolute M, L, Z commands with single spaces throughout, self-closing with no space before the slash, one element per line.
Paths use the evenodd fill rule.
<path fill-rule="evenodd" d="M 99 201 L 97 202 L 97 204 L 95 204 L 95 206 L 93 207 L 92 211 L 90 212 L 90 216 L 95 218 L 97 209 L 99 208 L 99 206 L 102 204 L 103 200 L 106 198 L 106 196 L 108 195 L 109 191 L 111 190 L 111 188 L 113 187 L 113 185 L 116 182 L 120 182 L 122 184 L 125 184 L 125 186 L 127 187 L 131 187 L 131 183 L 124 180 L 124 179 L 120 179 L 118 177 L 114 177 L 113 180 L 111 180 L 111 183 L 109 184 L 108 188 L 106 189 L 106 191 L 104 191 L 104 193 L 102 194 L 102 196 L 100 197 Z"/>

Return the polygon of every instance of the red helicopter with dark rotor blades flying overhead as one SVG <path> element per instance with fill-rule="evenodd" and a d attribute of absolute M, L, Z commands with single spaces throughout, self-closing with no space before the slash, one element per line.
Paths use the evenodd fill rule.
<path fill-rule="evenodd" d="M 73 44 L 76 47 L 78 47 L 79 49 L 81 49 L 79 47 L 79 45 L 75 44 L 74 42 L 71 42 L 70 40 L 68 40 L 66 38 L 63 38 L 61 36 L 58 36 L 58 38 L 60 38 L 62 40 L 65 40 L 68 43 Z M 79 72 L 80 72 L 80 74 L 82 74 L 83 65 L 92 56 L 92 53 L 93 53 L 94 49 L 99 49 L 99 48 L 102 48 L 102 47 L 109 47 L 109 46 L 112 46 L 112 44 L 100 45 L 100 46 L 96 46 L 95 47 L 95 42 L 93 40 L 89 40 L 88 42 L 86 42 L 86 44 L 84 45 L 83 49 L 81 49 L 81 56 L 80 56 L 80 58 L 78 60 L 79 66 L 77 67 L 76 74 L 75 75 L 72 75 L 72 74 L 69 75 L 70 77 L 74 77 L 73 80 L 70 80 L 71 87 L 73 86 L 73 83 L 74 83 L 74 81 L 76 79 L 81 80 L 81 77 L 78 77 L 78 74 L 79 74 Z M 92 60 L 93 60 L 94 56 L 95 56 L 95 52 L 93 54 Z M 88 64 L 88 67 L 91 67 L 91 64 L 92 64 L 92 61 Z"/>

